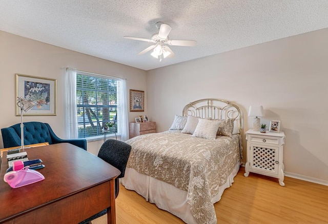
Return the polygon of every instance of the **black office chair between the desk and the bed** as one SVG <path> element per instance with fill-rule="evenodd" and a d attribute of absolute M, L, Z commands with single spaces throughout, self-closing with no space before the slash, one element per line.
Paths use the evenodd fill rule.
<path fill-rule="evenodd" d="M 127 167 L 129 155 L 131 152 L 131 145 L 114 139 L 109 139 L 103 143 L 98 152 L 98 157 L 113 167 L 121 171 L 121 174 L 115 179 L 115 198 L 119 192 L 119 180 L 118 178 L 124 177 L 125 168 Z M 81 221 L 79 224 L 86 224 L 93 219 L 103 216 L 107 213 L 107 209 L 98 212 L 97 214 Z"/>

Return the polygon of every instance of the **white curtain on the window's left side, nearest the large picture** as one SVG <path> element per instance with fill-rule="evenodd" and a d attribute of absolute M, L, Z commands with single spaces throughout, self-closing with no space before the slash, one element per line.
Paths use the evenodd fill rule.
<path fill-rule="evenodd" d="M 76 71 L 67 68 L 65 71 L 65 137 L 77 139 L 77 117 L 76 117 Z"/>

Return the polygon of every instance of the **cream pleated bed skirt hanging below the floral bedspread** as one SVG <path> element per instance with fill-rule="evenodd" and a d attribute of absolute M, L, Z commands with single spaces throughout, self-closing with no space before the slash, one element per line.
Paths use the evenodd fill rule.
<path fill-rule="evenodd" d="M 219 187 L 219 193 L 212 198 L 213 204 L 219 201 L 223 191 L 232 185 L 238 170 L 239 163 L 235 165 L 227 182 Z M 184 222 L 197 223 L 190 212 L 190 205 L 187 203 L 187 191 L 141 174 L 132 168 L 126 168 L 125 177 L 120 178 L 120 182 L 126 189 L 136 191 L 150 203 L 154 203 L 158 208 L 181 218 Z"/>

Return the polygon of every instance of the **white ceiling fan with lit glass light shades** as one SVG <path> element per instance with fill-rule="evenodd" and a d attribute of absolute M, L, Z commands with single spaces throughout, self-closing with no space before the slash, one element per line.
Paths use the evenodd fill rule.
<path fill-rule="evenodd" d="M 171 32 L 172 28 L 167 25 L 163 24 L 162 22 L 158 22 L 155 24 L 156 28 L 159 29 L 158 33 L 154 34 L 151 39 L 139 38 L 139 37 L 132 37 L 132 36 L 124 36 L 123 38 L 132 39 L 132 40 L 141 40 L 150 43 L 155 43 L 145 50 L 142 50 L 138 53 L 138 55 L 145 54 L 154 49 L 151 55 L 155 58 L 159 58 L 159 61 L 162 60 L 162 57 L 174 57 L 175 54 L 169 48 L 170 46 L 187 46 L 193 47 L 196 45 L 195 40 L 170 40 L 169 33 Z M 168 44 L 168 45 L 167 45 Z"/>

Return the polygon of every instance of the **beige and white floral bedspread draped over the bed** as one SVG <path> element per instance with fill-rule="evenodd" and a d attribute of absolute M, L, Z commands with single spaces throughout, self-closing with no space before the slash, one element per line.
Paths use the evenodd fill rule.
<path fill-rule="evenodd" d="M 242 155 L 239 135 L 215 140 L 176 130 L 152 133 L 127 141 L 132 146 L 127 167 L 187 191 L 197 223 L 216 223 L 211 199 Z"/>

